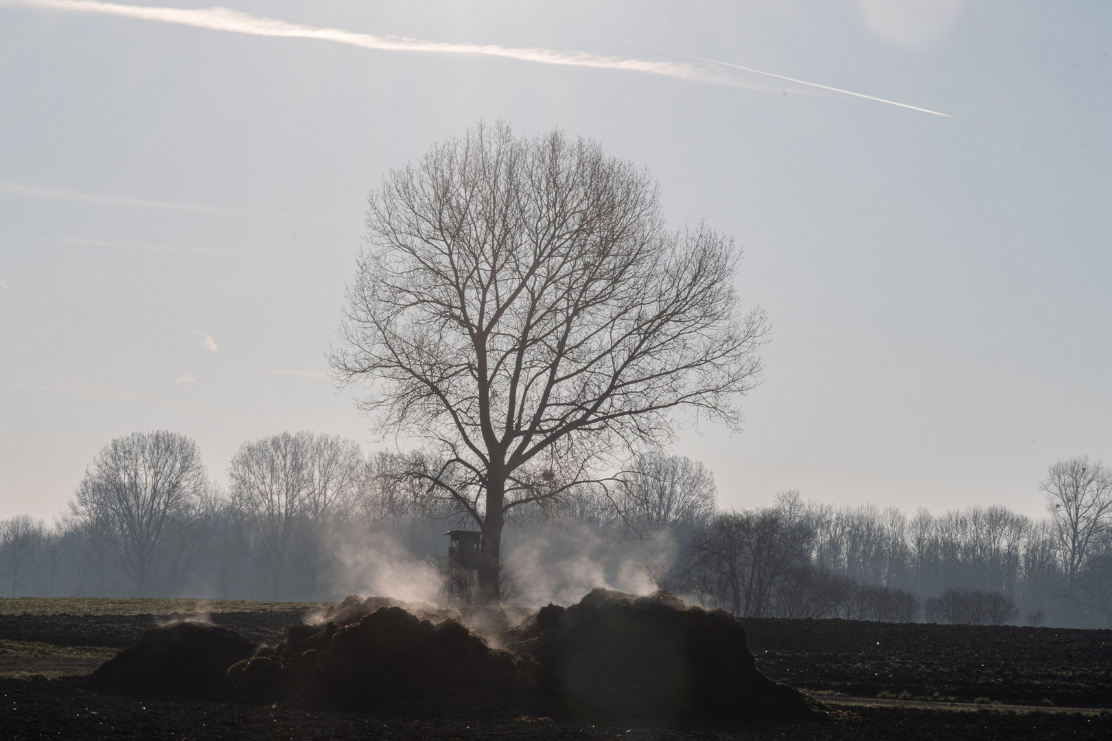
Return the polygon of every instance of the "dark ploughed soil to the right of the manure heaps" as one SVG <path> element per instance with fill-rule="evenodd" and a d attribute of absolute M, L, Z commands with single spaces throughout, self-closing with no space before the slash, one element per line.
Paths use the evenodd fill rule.
<path fill-rule="evenodd" d="M 1112 631 L 744 619 L 768 677 L 855 697 L 1112 708 Z"/>

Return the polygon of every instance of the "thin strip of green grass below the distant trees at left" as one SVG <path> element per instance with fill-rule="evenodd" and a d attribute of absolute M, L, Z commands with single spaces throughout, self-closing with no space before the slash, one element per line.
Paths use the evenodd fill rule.
<path fill-rule="evenodd" d="M 256 602 L 251 600 L 200 600 L 113 597 L 3 597 L 0 615 L 170 615 L 210 612 L 284 612 L 312 610 L 331 602 Z"/>

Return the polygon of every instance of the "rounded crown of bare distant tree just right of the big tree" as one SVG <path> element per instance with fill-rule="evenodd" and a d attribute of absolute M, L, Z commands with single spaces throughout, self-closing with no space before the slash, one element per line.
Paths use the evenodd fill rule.
<path fill-rule="evenodd" d="M 639 524 L 697 525 L 714 514 L 714 474 L 689 458 L 645 453 L 623 475 L 618 489 L 626 518 Z"/>

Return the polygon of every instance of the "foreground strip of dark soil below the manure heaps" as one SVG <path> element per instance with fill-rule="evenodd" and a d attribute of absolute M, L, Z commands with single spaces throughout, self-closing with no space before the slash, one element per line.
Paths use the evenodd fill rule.
<path fill-rule="evenodd" d="M 532 719 L 391 719 L 355 713 L 306 712 L 281 705 L 212 701 L 140 700 L 100 694 L 78 679 L 0 678 L 0 735 L 31 739 L 394 739 L 405 741 L 920 741 L 931 739 L 1106 741 L 1112 715 L 855 709 L 853 717 L 822 723 L 751 722 L 674 729 Z"/>

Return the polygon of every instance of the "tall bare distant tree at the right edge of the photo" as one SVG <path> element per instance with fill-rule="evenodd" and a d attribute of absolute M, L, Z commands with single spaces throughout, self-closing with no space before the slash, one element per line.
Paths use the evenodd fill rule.
<path fill-rule="evenodd" d="M 1068 587 L 1073 587 L 1090 544 L 1112 527 L 1112 470 L 1089 455 L 1050 467 L 1039 489 L 1054 522 Z"/>

